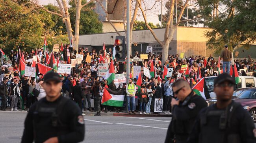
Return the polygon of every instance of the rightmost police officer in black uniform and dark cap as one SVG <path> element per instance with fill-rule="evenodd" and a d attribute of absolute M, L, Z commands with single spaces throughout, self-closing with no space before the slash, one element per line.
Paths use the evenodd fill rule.
<path fill-rule="evenodd" d="M 235 81 L 227 73 L 214 80 L 217 103 L 197 116 L 189 143 L 256 143 L 255 126 L 247 110 L 232 100 Z"/>

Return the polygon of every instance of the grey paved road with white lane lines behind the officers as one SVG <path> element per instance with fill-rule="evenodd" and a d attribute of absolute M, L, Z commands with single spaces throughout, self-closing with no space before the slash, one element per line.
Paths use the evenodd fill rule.
<path fill-rule="evenodd" d="M 0 111 L 0 143 L 20 143 L 27 112 Z M 171 118 L 84 116 L 83 143 L 163 143 Z"/>

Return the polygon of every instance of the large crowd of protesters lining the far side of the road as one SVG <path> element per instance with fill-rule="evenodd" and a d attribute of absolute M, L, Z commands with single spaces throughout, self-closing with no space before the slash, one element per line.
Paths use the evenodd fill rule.
<path fill-rule="evenodd" d="M 11 54 L 7 55 L 9 58 L 3 60 L 2 68 L 0 71 L 0 94 L 2 98 L 1 110 L 5 110 L 6 107 L 11 107 L 11 110 L 18 111 L 29 110 L 29 107 L 45 97 L 45 91 L 41 84 L 43 83 L 43 74 L 38 74 L 37 78 L 34 79 L 28 76 L 19 76 L 19 65 L 17 63 L 17 58 L 19 51 L 11 51 Z M 41 63 L 45 64 L 45 56 L 43 48 L 37 49 L 37 51 L 21 51 L 24 55 L 25 60 L 33 58 L 35 53 L 41 57 Z M 82 63 L 77 64 L 76 67 L 72 68 L 71 74 L 59 74 L 61 82 L 63 84 L 61 89 L 61 94 L 67 96 L 74 100 L 78 106 L 83 111 L 95 111 L 96 116 L 100 116 L 100 112 L 126 112 L 126 107 L 128 107 L 129 114 L 135 114 L 139 111 L 139 114 L 151 114 L 154 112 L 154 99 L 163 98 L 163 112 L 164 114 L 171 114 L 170 103 L 173 97 L 172 83 L 178 78 L 186 78 L 193 87 L 197 83 L 197 70 L 200 66 L 200 74 L 203 77 L 206 76 L 216 76 L 216 68 L 218 66 L 219 59 L 213 58 L 211 55 L 209 57 L 205 56 L 189 56 L 180 58 L 178 54 L 169 55 L 167 59 L 162 59 L 161 54 L 156 55 L 154 53 L 148 53 L 148 59 L 143 60 L 143 62 L 130 62 L 130 74 L 133 74 L 134 65 L 141 66 L 141 77 L 142 84 L 140 92 L 136 90 L 137 78 L 131 78 L 129 80 L 128 86 L 125 83 L 115 84 L 108 83 L 108 80 L 104 77 L 98 76 L 97 73 L 97 63 L 109 63 L 113 60 L 113 51 L 111 48 L 103 49 L 96 52 L 96 49 L 88 51 L 88 48 L 79 47 L 78 51 L 69 47 L 68 44 L 65 45 L 63 49 L 63 61 L 61 63 L 70 63 L 69 59 L 76 58 L 76 54 L 82 54 Z M 47 49 L 47 54 L 51 52 Z M 92 56 L 91 62 L 85 62 L 87 55 Z M 103 61 L 100 60 L 100 55 L 103 56 Z M 105 55 L 105 56 L 104 56 Z M 60 58 L 61 51 L 55 52 L 54 57 Z M 135 55 L 130 55 L 130 58 L 140 57 L 138 52 Z M 225 58 L 226 55 L 221 56 L 220 65 L 222 67 L 223 63 L 227 65 Z M 224 59 L 224 60 L 223 60 Z M 113 60 L 115 67 L 115 74 L 126 73 L 126 67 L 123 62 L 117 62 L 116 59 Z M 252 72 L 252 76 L 256 76 L 256 62 L 248 56 L 244 60 L 236 60 L 237 71 L 240 69 L 246 69 L 247 72 Z M 154 65 L 154 78 L 149 78 L 145 76 L 143 67 L 150 70 Z M 189 76 L 185 76 L 185 71 L 182 70 L 182 65 L 187 65 L 189 70 Z M 31 62 L 26 62 L 26 66 L 31 66 Z M 164 78 L 163 67 L 174 68 L 171 77 Z M 10 68 L 12 67 L 12 68 Z M 228 67 L 228 66 L 226 66 Z M 225 71 L 223 71 L 225 72 Z M 243 76 L 247 76 L 246 72 L 243 71 Z M 131 76 L 133 77 L 133 76 Z M 126 98 L 124 98 L 123 107 L 111 107 L 106 105 L 101 105 L 102 92 L 104 88 L 109 88 L 113 91 L 115 90 L 125 90 Z M 39 95 L 33 96 L 32 92 L 34 89 L 39 91 Z M 137 98 L 136 98 L 137 97 Z M 93 99 L 93 100 L 91 100 Z M 91 101 L 94 101 L 94 108 Z M 126 106 L 126 104 L 128 104 Z M 159 112 L 156 112 L 159 114 Z"/>

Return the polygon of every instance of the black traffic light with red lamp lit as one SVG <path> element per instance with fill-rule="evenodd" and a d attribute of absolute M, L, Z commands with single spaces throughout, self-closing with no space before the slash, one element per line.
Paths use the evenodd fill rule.
<path fill-rule="evenodd" d="M 115 37 L 115 51 L 116 54 L 114 56 L 117 62 L 125 62 L 126 46 L 124 36 Z"/>

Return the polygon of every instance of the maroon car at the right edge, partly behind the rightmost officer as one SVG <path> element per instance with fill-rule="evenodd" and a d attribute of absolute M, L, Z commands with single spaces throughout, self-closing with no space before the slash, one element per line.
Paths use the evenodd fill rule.
<path fill-rule="evenodd" d="M 239 102 L 245 110 L 248 110 L 252 116 L 252 120 L 256 123 L 256 88 L 243 90 L 233 100 Z"/>

